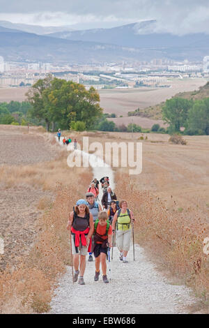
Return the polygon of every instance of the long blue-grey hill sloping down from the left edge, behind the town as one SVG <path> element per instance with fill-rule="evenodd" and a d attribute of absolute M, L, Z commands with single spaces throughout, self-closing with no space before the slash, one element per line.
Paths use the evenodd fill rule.
<path fill-rule="evenodd" d="M 0 31 L 0 55 L 8 61 L 55 61 L 68 64 L 100 64 L 147 57 L 146 50 L 104 43 L 63 40 L 22 31 L 8 31 L 8 29 Z M 155 56 L 155 50 L 150 52 L 150 55 Z"/>

